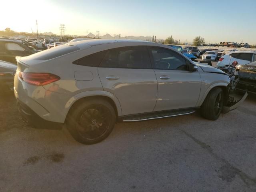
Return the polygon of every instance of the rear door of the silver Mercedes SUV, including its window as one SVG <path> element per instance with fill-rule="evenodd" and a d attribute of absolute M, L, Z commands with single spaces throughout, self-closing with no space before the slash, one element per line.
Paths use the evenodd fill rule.
<path fill-rule="evenodd" d="M 108 50 L 98 68 L 98 74 L 103 89 L 118 98 L 122 115 L 153 111 L 157 81 L 146 47 Z"/>

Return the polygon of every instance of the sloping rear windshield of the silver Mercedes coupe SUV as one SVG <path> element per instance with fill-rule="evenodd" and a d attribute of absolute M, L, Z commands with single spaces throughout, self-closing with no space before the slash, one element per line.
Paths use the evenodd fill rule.
<path fill-rule="evenodd" d="M 71 46 L 71 45 L 65 44 L 65 45 L 57 46 L 55 48 L 47 49 L 47 50 L 32 54 L 28 56 L 28 58 L 32 60 L 49 60 L 49 59 L 53 59 L 77 50 L 80 50 L 80 48 L 78 48 L 77 46 Z"/>

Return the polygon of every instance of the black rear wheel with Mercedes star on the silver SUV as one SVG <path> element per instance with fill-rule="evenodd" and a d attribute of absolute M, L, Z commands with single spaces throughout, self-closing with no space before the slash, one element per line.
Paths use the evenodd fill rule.
<path fill-rule="evenodd" d="M 72 106 L 66 125 L 76 141 L 82 144 L 95 144 L 109 136 L 115 122 L 116 113 L 109 102 L 90 99 Z"/>

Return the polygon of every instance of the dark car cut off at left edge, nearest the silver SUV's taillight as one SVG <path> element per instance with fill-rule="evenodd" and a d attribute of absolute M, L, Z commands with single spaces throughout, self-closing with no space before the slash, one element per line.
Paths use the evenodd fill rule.
<path fill-rule="evenodd" d="M 16 69 L 16 65 L 6 61 L 0 61 L 0 94 L 13 91 Z"/>

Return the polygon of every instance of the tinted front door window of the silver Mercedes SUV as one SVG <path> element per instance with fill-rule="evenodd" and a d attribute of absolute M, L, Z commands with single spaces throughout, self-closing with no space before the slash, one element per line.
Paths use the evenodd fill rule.
<path fill-rule="evenodd" d="M 188 70 L 186 60 L 179 54 L 163 49 L 150 48 L 154 59 L 154 69 Z"/>

